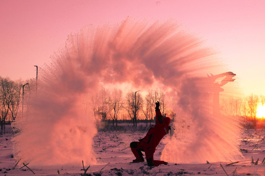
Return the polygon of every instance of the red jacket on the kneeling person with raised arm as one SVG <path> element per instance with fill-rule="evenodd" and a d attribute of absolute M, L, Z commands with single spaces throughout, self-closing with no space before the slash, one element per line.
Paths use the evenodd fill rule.
<path fill-rule="evenodd" d="M 160 140 L 169 131 L 169 123 L 170 118 L 162 117 L 160 110 L 156 110 L 156 124 L 152 125 L 149 131 L 147 132 L 146 136 L 139 140 L 141 142 L 141 145 L 144 146 L 146 149 L 150 149 L 155 152 Z"/>

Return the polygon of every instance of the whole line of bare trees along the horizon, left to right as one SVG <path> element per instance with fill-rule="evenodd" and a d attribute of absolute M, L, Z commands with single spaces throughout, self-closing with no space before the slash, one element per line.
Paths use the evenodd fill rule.
<path fill-rule="evenodd" d="M 4 133 L 6 121 L 15 121 L 18 116 L 23 117 L 24 99 L 30 98 L 30 94 L 37 91 L 36 79 L 27 81 L 12 81 L 9 78 L 0 77 L 0 134 Z M 132 120 L 137 127 L 137 120 L 144 119 L 151 125 L 155 117 L 155 102 L 160 102 L 160 110 L 163 115 L 174 119 L 178 113 L 177 97 L 165 97 L 161 90 L 150 89 L 142 91 L 129 91 L 126 94 L 121 89 L 101 88 L 82 101 L 83 111 L 92 110 L 96 121 L 112 122 L 112 126 L 118 124 L 118 120 Z M 27 96 L 25 96 L 27 95 Z M 238 116 L 242 120 L 250 120 L 257 125 L 258 107 L 264 105 L 265 96 L 249 95 L 245 98 L 220 99 L 220 110 L 224 115 Z M 24 105 L 25 106 L 25 105 Z M 26 106 L 26 108 L 28 108 Z M 26 111 L 26 110 L 25 110 Z"/>

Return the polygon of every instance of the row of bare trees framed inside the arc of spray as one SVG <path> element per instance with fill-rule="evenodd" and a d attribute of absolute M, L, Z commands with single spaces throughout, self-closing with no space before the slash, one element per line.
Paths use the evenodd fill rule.
<path fill-rule="evenodd" d="M 155 102 L 160 102 L 160 109 L 163 115 L 167 110 L 164 103 L 165 94 L 159 90 L 150 90 L 145 97 L 139 91 L 129 91 L 125 96 L 120 89 L 112 91 L 102 88 L 100 92 L 96 92 L 91 98 L 92 110 L 97 120 L 112 120 L 112 126 L 116 123 L 118 117 L 129 117 L 133 126 L 137 127 L 137 119 L 139 116 L 144 117 L 147 122 L 153 120 L 155 116 Z M 147 125 L 147 124 L 146 124 Z"/>

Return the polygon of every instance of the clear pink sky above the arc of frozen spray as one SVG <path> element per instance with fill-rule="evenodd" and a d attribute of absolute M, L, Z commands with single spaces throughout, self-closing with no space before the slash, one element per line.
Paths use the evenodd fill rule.
<path fill-rule="evenodd" d="M 67 36 L 128 16 L 181 22 L 220 51 L 243 93 L 265 94 L 264 0 L 0 0 L 0 76 L 35 77 Z"/>

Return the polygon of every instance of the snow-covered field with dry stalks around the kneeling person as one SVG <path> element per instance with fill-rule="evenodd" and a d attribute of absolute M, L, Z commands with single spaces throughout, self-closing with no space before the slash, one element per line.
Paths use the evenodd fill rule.
<path fill-rule="evenodd" d="M 8 130 L 8 128 L 7 128 Z M 231 162 L 204 164 L 169 163 L 159 167 L 148 167 L 146 162 L 130 163 L 134 156 L 130 143 L 145 135 L 146 131 L 98 132 L 94 137 L 94 151 L 98 163 L 84 163 L 87 175 L 91 176 L 265 176 L 265 130 L 246 130 L 241 137 L 240 150 L 245 159 Z M 82 161 L 79 167 L 31 167 L 31 171 L 13 158 L 12 133 L 0 136 L 0 176 L 82 176 Z M 164 147 L 160 142 L 155 153 L 159 159 Z M 177 149 L 176 149 L 177 150 Z M 252 162 L 253 158 L 253 162 Z M 237 162 L 237 163 L 234 163 Z M 234 164 L 231 164 L 234 163 Z M 23 167 L 24 166 L 24 167 Z M 15 168 L 14 168 L 15 167 Z M 226 173 L 225 173 L 226 172 Z"/>

